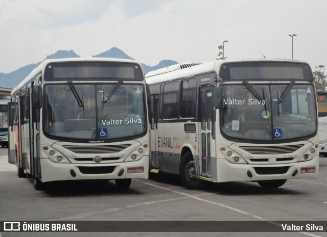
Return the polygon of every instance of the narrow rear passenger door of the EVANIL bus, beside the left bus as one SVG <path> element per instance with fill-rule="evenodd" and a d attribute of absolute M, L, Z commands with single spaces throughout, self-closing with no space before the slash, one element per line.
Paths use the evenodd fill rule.
<path fill-rule="evenodd" d="M 159 116 L 159 95 L 151 95 L 151 167 L 159 168 L 159 154 L 158 154 L 158 116 Z"/>

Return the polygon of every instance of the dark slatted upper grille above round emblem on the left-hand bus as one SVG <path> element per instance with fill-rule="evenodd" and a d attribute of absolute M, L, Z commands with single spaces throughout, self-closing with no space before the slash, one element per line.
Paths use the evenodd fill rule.
<path fill-rule="evenodd" d="M 102 154 L 102 153 L 118 153 L 127 147 L 131 146 L 131 144 L 123 144 L 123 145 L 109 145 L 109 146 L 62 146 L 70 151 L 75 153 L 82 154 Z"/>

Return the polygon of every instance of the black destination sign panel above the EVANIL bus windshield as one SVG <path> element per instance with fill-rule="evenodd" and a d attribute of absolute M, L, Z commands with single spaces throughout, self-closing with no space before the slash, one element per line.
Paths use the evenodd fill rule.
<path fill-rule="evenodd" d="M 225 63 L 219 77 L 223 81 L 313 81 L 309 65 L 283 61 Z"/>

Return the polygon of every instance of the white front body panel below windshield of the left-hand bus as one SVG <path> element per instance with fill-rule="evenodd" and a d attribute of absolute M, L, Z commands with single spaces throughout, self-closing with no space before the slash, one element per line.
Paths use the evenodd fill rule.
<path fill-rule="evenodd" d="M 43 137 L 41 139 L 41 152 L 40 152 L 40 164 L 41 164 L 41 181 L 48 182 L 48 181 L 56 181 L 56 180 L 86 180 L 86 179 L 122 179 L 122 178 L 145 178 L 147 179 L 149 176 L 149 145 L 147 148 L 142 147 L 144 152 L 141 156 L 141 159 L 136 161 L 125 162 L 129 158 L 131 153 L 135 153 L 134 151 L 137 150 L 141 144 L 144 144 L 148 141 L 148 136 L 146 135 L 143 138 L 135 139 L 133 141 L 124 141 L 124 142 L 117 142 L 117 143 L 100 143 L 100 144 L 88 144 L 88 143 L 66 143 L 66 142 L 56 142 Z M 65 148 L 64 146 L 77 146 L 79 149 L 84 147 L 89 147 L 90 149 L 94 146 L 115 146 L 115 145 L 129 145 L 127 148 L 121 150 L 120 152 L 116 153 L 96 153 L 96 152 L 75 152 L 69 150 L 69 148 Z M 60 162 L 53 162 L 49 159 L 50 154 L 49 150 L 43 150 L 44 146 L 49 147 L 49 150 L 54 150 L 55 157 L 60 155 L 65 157 L 63 161 L 66 163 Z M 87 148 L 85 148 L 87 150 Z M 119 159 L 113 159 L 109 161 L 101 161 L 96 163 L 93 161 L 94 156 L 99 155 L 103 157 L 120 157 Z M 89 161 L 81 161 L 85 158 L 91 158 Z M 75 160 L 77 159 L 77 160 Z M 79 159 L 79 160 L 78 160 Z M 85 168 L 92 168 L 92 167 L 115 167 L 114 170 L 110 173 L 98 173 L 98 174 L 90 174 L 90 173 L 82 173 L 79 167 Z M 144 172 L 141 173 L 127 173 L 127 168 L 137 168 L 142 167 L 144 168 Z M 75 172 L 76 176 L 72 175 L 72 170 Z M 124 171 L 119 175 L 120 172 Z"/>

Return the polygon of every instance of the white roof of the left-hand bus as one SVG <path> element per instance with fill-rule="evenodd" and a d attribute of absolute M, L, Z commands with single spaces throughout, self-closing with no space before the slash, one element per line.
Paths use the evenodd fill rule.
<path fill-rule="evenodd" d="M 56 63 L 56 62 L 81 62 L 81 61 L 97 61 L 97 62 L 121 62 L 121 63 L 136 63 L 138 64 L 142 71 L 142 65 L 141 63 L 131 60 L 131 59 L 115 59 L 115 58 L 65 58 L 65 59 L 45 59 L 43 62 L 41 62 L 36 68 L 34 68 L 28 76 L 24 78 L 11 92 L 11 95 L 13 95 L 17 90 L 19 90 L 21 87 L 25 86 L 30 80 L 32 80 L 37 74 L 42 72 L 44 70 L 44 67 L 49 63 Z"/>

